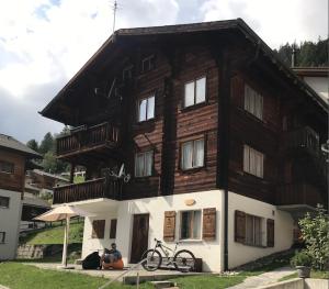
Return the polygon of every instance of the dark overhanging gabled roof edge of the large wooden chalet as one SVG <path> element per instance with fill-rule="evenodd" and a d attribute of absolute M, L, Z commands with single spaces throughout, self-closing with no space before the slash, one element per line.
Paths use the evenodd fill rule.
<path fill-rule="evenodd" d="M 120 48 L 120 41 L 123 38 L 136 38 L 136 37 L 164 37 L 172 35 L 189 35 L 206 32 L 224 32 L 224 31 L 239 31 L 248 38 L 262 54 L 271 60 L 276 67 L 277 73 L 283 74 L 288 81 L 296 85 L 298 89 L 303 90 L 309 98 L 316 101 L 326 112 L 328 112 L 327 103 L 313 90 L 303 79 L 296 76 L 296 74 L 287 67 L 277 55 L 241 19 L 203 22 L 193 24 L 180 24 L 180 25 L 166 25 L 166 26 L 150 26 L 150 27 L 137 27 L 137 29 L 121 29 L 115 31 L 105 43 L 99 48 L 99 51 L 83 65 L 83 67 L 68 81 L 68 84 L 57 93 L 57 96 L 41 111 L 44 116 L 60 121 L 52 113 L 52 108 L 63 97 L 70 91 L 70 89 L 78 82 L 78 79 L 84 74 L 88 74 L 94 66 L 101 63 L 101 58 L 104 55 L 111 55 L 115 48 Z"/>

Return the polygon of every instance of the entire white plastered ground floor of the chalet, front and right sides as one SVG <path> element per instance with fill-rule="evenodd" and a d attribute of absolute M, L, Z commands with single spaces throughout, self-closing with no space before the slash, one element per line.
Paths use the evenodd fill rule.
<path fill-rule="evenodd" d="M 109 248 L 111 243 L 115 242 L 124 263 L 129 264 L 136 251 L 140 249 L 138 244 L 149 248 L 154 247 L 155 238 L 163 241 L 163 226 L 168 225 L 166 212 L 170 212 L 175 215 L 173 224 L 170 224 L 174 226 L 173 241 L 163 244 L 173 248 L 175 242 L 180 241 L 180 249 L 189 249 L 196 258 L 202 258 L 204 271 L 224 270 L 224 191 L 222 190 L 128 201 L 97 199 L 73 204 L 93 214 L 84 221 L 82 258 L 94 251 Z M 204 234 L 204 231 L 209 229 L 208 224 L 204 224 L 207 209 L 215 211 L 211 223 L 214 235 L 211 238 L 205 237 Z M 246 224 L 246 231 L 254 230 L 248 233 L 248 245 L 236 242 L 235 212 L 237 210 L 248 216 L 257 216 L 259 220 L 257 224 L 253 223 L 253 229 L 250 229 L 250 222 Z M 268 219 L 274 221 L 274 244 L 271 247 L 266 246 Z M 294 221 L 290 213 L 277 210 L 275 205 L 228 192 L 229 268 L 290 248 L 293 244 L 293 230 Z M 147 234 L 140 236 L 138 233 L 140 231 L 146 231 Z M 257 244 L 250 243 L 252 235 L 256 236 Z"/>

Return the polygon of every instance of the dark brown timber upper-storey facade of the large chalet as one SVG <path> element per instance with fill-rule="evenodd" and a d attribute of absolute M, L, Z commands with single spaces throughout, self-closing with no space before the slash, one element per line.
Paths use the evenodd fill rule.
<path fill-rule="evenodd" d="M 178 35 L 123 31 L 117 47 L 112 45 L 113 58 L 97 54 L 69 84 L 73 92 L 50 102 L 45 116 L 84 127 L 106 122 L 118 130 L 115 142 L 102 140 L 115 143 L 103 151 L 90 142 L 87 154 L 75 141 L 69 149 L 72 163 L 84 165 L 90 178 L 124 163 L 133 177 L 122 185 L 121 199 L 219 188 L 273 204 L 326 203 L 326 168 L 319 151 L 319 143 L 328 138 L 326 108 L 307 95 L 308 88 L 287 77 L 290 71 L 283 70 L 288 68 L 282 64 L 277 68 L 276 58 L 239 30 L 189 32 L 188 26 Z M 150 55 L 152 67 L 143 71 L 143 59 Z M 133 67 L 132 78 L 123 80 L 126 67 Z M 184 108 L 184 84 L 198 77 L 206 77 L 206 100 Z M 245 84 L 263 97 L 262 120 L 243 108 Z M 155 118 L 138 122 L 138 100 L 150 95 Z M 317 142 L 309 147 L 304 146 L 307 130 Z M 183 170 L 181 145 L 196 138 L 204 138 L 204 166 Z M 243 171 L 246 144 L 264 155 L 263 178 Z M 152 174 L 134 177 L 135 154 L 146 151 L 154 153 Z M 292 197 L 283 198 L 286 193 Z"/>

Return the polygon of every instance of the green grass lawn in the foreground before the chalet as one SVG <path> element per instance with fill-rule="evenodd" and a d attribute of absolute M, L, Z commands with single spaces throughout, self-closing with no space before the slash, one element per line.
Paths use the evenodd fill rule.
<path fill-rule="evenodd" d="M 34 266 L 16 262 L 0 263 L 0 284 L 11 289 L 97 289 L 109 279 L 91 277 L 75 273 L 39 269 Z M 172 279 L 181 289 L 222 289 L 237 285 L 246 278 L 246 275 L 216 276 L 202 275 Z M 136 286 L 114 284 L 110 289 L 133 289 Z M 154 288 L 150 284 L 141 284 L 140 289 Z"/>

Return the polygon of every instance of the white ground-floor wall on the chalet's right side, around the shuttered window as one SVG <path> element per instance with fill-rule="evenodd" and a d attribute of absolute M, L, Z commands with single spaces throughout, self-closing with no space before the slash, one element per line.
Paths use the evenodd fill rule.
<path fill-rule="evenodd" d="M 263 218 L 263 241 L 266 240 L 265 219 L 274 220 L 274 247 L 254 247 L 235 242 L 235 210 Z M 280 211 L 275 205 L 247 198 L 234 192 L 228 193 L 228 266 L 237 267 L 275 252 L 288 249 L 293 244 L 294 221 L 290 213 Z"/>

